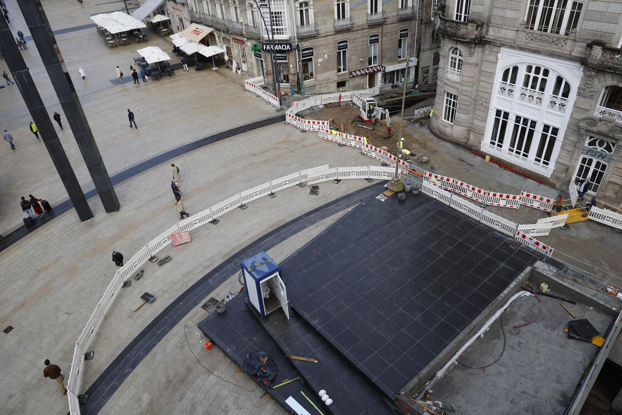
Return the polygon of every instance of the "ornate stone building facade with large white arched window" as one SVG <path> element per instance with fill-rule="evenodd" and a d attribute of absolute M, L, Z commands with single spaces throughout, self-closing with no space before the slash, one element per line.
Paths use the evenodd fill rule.
<path fill-rule="evenodd" d="M 588 196 L 620 210 L 622 2 L 426 6 L 440 35 L 432 131 L 558 188 L 588 176 Z"/>

